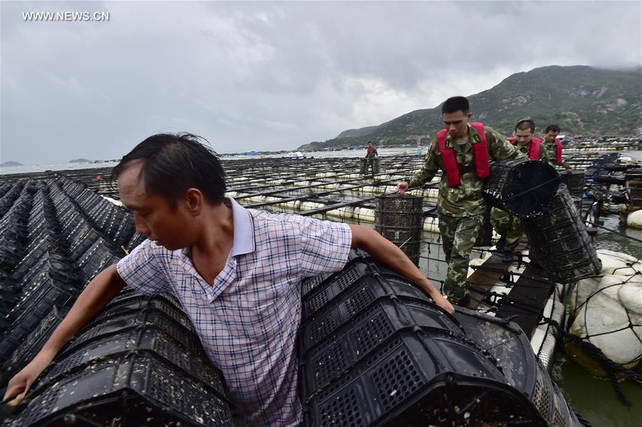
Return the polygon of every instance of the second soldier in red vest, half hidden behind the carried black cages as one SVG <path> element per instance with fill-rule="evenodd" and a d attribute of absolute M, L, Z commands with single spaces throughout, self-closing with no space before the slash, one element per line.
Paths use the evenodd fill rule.
<path fill-rule="evenodd" d="M 508 138 L 520 154 L 527 156 L 530 160 L 539 160 L 548 163 L 548 153 L 542 144 L 542 140 L 533 137 L 535 134 L 535 122 L 525 117 L 517 122 L 513 131 L 513 138 Z M 496 255 L 501 261 L 509 263 L 513 261 L 513 253 L 521 241 L 523 228 L 521 219 L 508 214 L 502 209 L 491 209 L 491 224 L 500 238 L 497 242 Z"/>

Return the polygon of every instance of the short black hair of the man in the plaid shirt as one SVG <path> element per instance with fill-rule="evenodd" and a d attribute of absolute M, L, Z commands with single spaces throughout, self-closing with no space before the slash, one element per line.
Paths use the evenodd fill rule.
<path fill-rule="evenodd" d="M 208 141 L 186 132 L 152 135 L 123 156 L 112 173 L 118 179 L 132 162 L 142 160 L 139 178 L 147 194 L 162 196 L 176 208 L 187 189 L 195 188 L 211 204 L 220 204 L 225 171 L 218 154 L 204 143 Z"/>

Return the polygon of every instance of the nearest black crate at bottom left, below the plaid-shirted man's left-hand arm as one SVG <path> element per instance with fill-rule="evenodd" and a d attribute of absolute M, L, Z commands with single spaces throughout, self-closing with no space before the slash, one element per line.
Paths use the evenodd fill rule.
<path fill-rule="evenodd" d="M 35 393 L 34 393 L 35 394 Z M 41 388 L 10 426 L 231 426 L 231 408 L 209 384 L 181 375 L 155 353 L 104 358 Z"/>

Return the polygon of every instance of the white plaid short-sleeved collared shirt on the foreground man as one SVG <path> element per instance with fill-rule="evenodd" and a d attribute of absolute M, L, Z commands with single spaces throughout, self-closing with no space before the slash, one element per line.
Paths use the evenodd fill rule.
<path fill-rule="evenodd" d="M 141 293 L 178 296 L 243 411 L 241 421 L 299 425 L 301 280 L 343 268 L 352 233 L 344 223 L 244 209 L 233 199 L 226 204 L 234 243 L 213 286 L 196 271 L 187 248 L 169 251 L 149 240 L 121 259 L 117 270 Z"/>

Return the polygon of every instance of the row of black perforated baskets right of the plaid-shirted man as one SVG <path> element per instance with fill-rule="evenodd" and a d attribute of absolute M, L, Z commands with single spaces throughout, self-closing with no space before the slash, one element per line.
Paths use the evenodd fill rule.
<path fill-rule="evenodd" d="M 302 294 L 308 426 L 578 424 L 517 326 L 451 316 L 366 253 Z"/>

